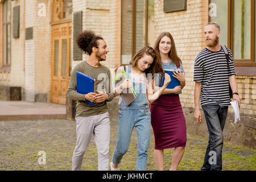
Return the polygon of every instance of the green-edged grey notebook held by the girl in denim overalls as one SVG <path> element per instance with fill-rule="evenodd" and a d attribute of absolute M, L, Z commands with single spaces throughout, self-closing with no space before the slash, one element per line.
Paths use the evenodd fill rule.
<path fill-rule="evenodd" d="M 115 86 L 121 85 L 122 82 L 125 81 L 127 78 L 128 76 L 126 75 L 126 72 L 123 70 L 122 73 L 114 79 Z M 121 93 L 121 97 L 123 102 L 125 102 L 125 104 L 129 106 L 131 102 L 135 100 L 135 98 L 137 97 L 137 94 L 135 93 L 134 88 L 130 87 L 128 89 L 123 89 Z"/>

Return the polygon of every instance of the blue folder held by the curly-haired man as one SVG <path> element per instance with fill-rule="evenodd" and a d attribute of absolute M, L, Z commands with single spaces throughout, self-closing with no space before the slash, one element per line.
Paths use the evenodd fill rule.
<path fill-rule="evenodd" d="M 95 92 L 95 80 L 81 72 L 76 72 L 76 90 L 81 94 L 88 94 Z M 93 105 L 93 102 L 85 101 L 89 105 Z"/>

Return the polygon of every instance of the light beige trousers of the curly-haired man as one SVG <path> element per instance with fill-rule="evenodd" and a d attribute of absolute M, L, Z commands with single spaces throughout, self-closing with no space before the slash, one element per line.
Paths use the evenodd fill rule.
<path fill-rule="evenodd" d="M 72 171 L 81 169 L 82 158 L 90 139 L 94 138 L 98 151 L 98 171 L 109 170 L 109 113 L 76 117 L 76 148 L 73 152 Z"/>

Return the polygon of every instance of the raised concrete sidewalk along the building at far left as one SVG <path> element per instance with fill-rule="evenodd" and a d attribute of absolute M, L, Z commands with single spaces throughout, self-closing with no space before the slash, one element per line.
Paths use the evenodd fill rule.
<path fill-rule="evenodd" d="M 0 101 L 0 120 L 64 118 L 65 105 L 49 102 Z"/>

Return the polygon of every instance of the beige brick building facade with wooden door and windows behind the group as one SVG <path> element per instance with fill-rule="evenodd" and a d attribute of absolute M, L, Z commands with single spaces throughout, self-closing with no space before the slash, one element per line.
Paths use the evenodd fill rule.
<path fill-rule="evenodd" d="M 168 12 L 170 3 L 175 2 L 185 2 L 183 10 Z M 221 27 L 226 42 L 221 41 L 236 52 L 234 29 L 238 23 L 233 17 L 237 15 L 237 8 L 242 8 L 245 9 L 244 22 L 250 20 L 243 30 L 249 32 L 250 37 L 242 35 L 246 40 L 243 41 L 245 46 L 242 44 L 245 58 L 234 58 L 238 92 L 242 98 L 240 113 L 249 120 L 241 125 L 242 132 L 237 138 L 249 133 L 250 142 L 255 143 L 255 0 L 241 0 L 241 6 L 230 0 L 222 5 L 224 10 L 220 6 L 218 0 L 1 0 L 0 98 L 12 100 L 15 93 L 20 92 L 24 101 L 65 104 L 68 76 L 76 64 L 88 57 L 74 45 L 75 36 L 81 30 L 93 30 L 106 40 L 109 53 L 103 64 L 112 72 L 119 65 L 127 64 L 141 47 L 154 46 L 158 35 L 168 31 L 174 36 L 186 72 L 181 104 L 187 118 L 192 117 L 193 64 L 196 55 L 205 47 L 204 25 L 215 20 L 226 24 L 227 27 Z M 222 17 L 222 11 L 227 13 L 226 17 Z M 226 23 L 220 16 L 227 19 Z M 15 90 L 11 88 L 18 89 L 11 92 Z M 229 109 L 229 113 L 232 118 L 233 110 Z M 197 134 L 202 133 L 198 131 Z M 241 139 L 240 142 L 246 143 Z"/>

